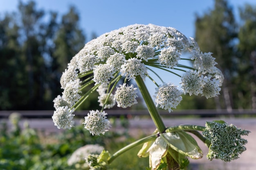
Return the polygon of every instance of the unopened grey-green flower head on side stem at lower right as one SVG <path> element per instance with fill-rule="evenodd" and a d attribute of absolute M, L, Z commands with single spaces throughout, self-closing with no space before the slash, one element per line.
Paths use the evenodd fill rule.
<path fill-rule="evenodd" d="M 242 135 L 248 135 L 250 131 L 237 128 L 233 124 L 224 121 L 206 122 L 203 135 L 211 141 L 207 159 L 221 159 L 230 162 L 238 159 L 246 147 L 247 140 Z"/>

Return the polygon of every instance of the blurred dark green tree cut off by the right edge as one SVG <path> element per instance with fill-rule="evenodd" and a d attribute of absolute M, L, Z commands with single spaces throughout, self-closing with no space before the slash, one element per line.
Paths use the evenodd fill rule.
<path fill-rule="evenodd" d="M 240 108 L 256 109 L 256 6 L 246 4 L 240 7 L 242 26 L 238 33 Z"/>

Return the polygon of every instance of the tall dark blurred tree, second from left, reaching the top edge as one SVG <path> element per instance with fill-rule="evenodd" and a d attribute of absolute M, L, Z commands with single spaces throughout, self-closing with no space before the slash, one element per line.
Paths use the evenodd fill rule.
<path fill-rule="evenodd" d="M 20 41 L 21 54 L 20 57 L 25 63 L 24 82 L 26 83 L 28 100 L 23 106 L 28 109 L 43 108 L 43 97 L 45 93 L 45 60 L 43 58 L 43 10 L 37 10 L 33 1 L 27 4 L 19 2 L 18 5 L 20 24 Z M 20 108 L 22 109 L 22 107 Z M 24 108 L 25 109 L 25 108 Z"/>

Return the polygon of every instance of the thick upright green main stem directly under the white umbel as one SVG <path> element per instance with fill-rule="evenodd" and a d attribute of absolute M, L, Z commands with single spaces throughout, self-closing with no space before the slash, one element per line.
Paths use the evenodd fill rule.
<path fill-rule="evenodd" d="M 144 100 L 146 102 L 148 111 L 150 113 L 150 116 L 151 116 L 153 122 L 155 123 L 155 126 L 157 127 L 157 129 L 160 133 L 163 133 L 165 131 L 164 122 L 161 119 L 161 117 L 157 111 L 157 108 L 155 107 L 155 103 L 153 102 L 143 79 L 141 78 L 141 76 L 136 76 L 135 80 L 136 80 L 136 83 L 137 83 L 139 90 L 142 94 L 142 97 L 144 98 Z"/>

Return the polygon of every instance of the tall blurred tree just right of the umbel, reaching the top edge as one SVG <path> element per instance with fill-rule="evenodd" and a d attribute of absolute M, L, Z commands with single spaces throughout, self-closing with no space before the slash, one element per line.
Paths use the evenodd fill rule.
<path fill-rule="evenodd" d="M 237 59 L 234 54 L 234 40 L 237 37 L 237 25 L 232 7 L 227 0 L 215 0 L 214 9 L 197 16 L 195 22 L 195 40 L 202 52 L 213 52 L 213 57 L 224 73 L 225 81 L 222 85 L 223 99 L 216 98 L 217 108 L 221 108 L 220 101 L 225 101 L 225 108 L 231 110 L 233 105 L 232 78 L 237 73 Z M 219 104 L 218 104 L 219 103 Z"/>

